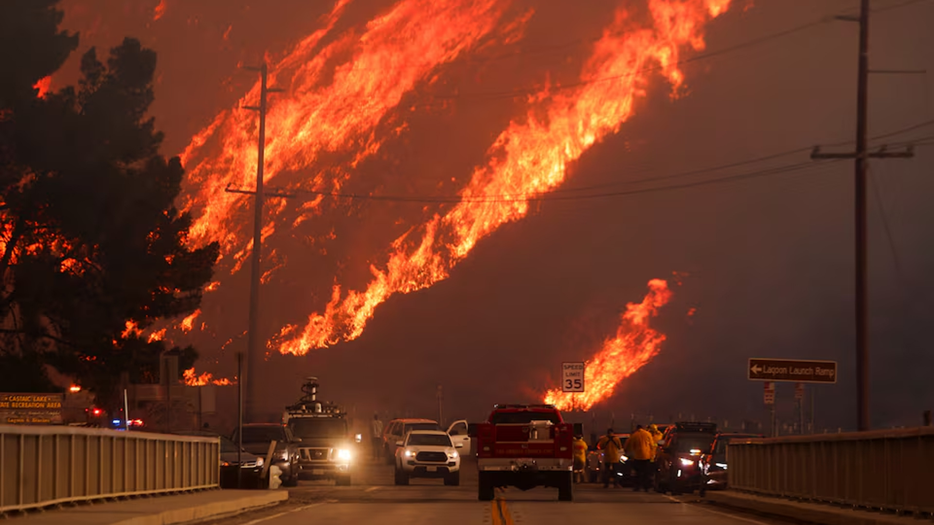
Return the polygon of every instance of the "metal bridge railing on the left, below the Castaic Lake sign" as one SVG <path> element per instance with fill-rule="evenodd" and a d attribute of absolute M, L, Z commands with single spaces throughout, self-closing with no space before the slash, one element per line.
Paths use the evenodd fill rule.
<path fill-rule="evenodd" d="M 0 425 L 0 513 L 213 489 L 219 469 L 216 438 Z"/>

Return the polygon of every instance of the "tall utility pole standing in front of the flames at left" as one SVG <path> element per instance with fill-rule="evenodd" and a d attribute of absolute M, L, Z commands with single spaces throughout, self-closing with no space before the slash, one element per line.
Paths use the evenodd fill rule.
<path fill-rule="evenodd" d="M 271 92 L 282 92 L 283 90 L 270 88 L 267 85 L 269 77 L 269 69 L 265 62 L 263 62 L 259 67 L 246 66 L 245 69 L 250 71 L 258 71 L 260 73 L 260 105 L 259 106 L 243 106 L 244 109 L 249 109 L 252 111 L 258 111 L 260 113 L 260 137 L 257 151 L 257 161 L 256 161 L 256 189 L 253 192 L 243 191 L 243 190 L 233 190 L 227 188 L 227 192 L 235 193 L 248 193 L 254 196 L 253 199 L 253 251 L 250 254 L 250 275 L 249 275 L 249 322 L 247 330 L 247 362 L 244 363 L 243 369 L 240 371 L 240 376 L 237 379 L 240 388 L 243 388 L 246 391 L 246 418 L 248 420 L 254 420 L 257 418 L 257 409 L 256 409 L 256 392 L 257 385 L 256 380 L 253 377 L 250 377 L 251 374 L 255 374 L 259 369 L 259 365 L 262 362 L 262 348 L 260 348 L 260 279 L 262 277 L 262 272 L 260 271 L 260 254 L 262 251 L 262 208 L 265 202 L 267 195 L 263 192 L 262 189 L 262 177 L 263 177 L 263 168 L 265 167 L 265 150 L 266 150 L 266 107 L 267 107 L 267 98 Z M 276 193 L 271 196 L 288 196 L 281 193 Z"/>

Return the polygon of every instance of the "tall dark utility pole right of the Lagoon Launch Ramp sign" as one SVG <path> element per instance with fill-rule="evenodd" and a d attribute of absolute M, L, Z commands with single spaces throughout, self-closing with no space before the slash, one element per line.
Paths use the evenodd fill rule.
<path fill-rule="evenodd" d="M 852 153 L 821 153 L 814 148 L 812 159 L 855 159 L 856 160 L 856 428 L 870 430 L 870 356 L 867 288 L 867 220 L 866 220 L 866 172 L 869 159 L 911 158 L 912 147 L 905 151 L 889 152 L 885 147 L 870 152 L 867 144 L 869 131 L 869 47 L 870 47 L 870 0 L 860 0 L 859 16 L 839 16 L 838 20 L 859 22 L 859 62 L 856 77 L 856 151 Z M 880 71 L 884 73 L 884 71 Z"/>

